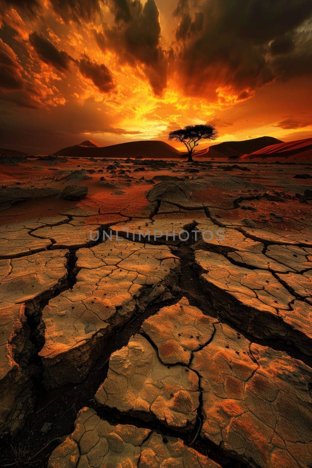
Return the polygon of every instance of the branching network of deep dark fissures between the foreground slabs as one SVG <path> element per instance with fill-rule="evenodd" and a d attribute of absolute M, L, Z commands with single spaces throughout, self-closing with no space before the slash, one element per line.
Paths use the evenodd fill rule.
<path fill-rule="evenodd" d="M 97 243 L 102 243 L 102 236 L 99 236 L 99 241 L 94 242 L 94 245 L 96 245 Z M 159 244 L 163 245 L 164 242 L 159 242 Z M 175 304 L 178 300 L 181 299 L 182 296 L 187 297 L 190 305 L 199 307 L 204 314 L 217 318 L 219 318 L 219 315 L 222 315 L 223 322 L 228 323 L 233 329 L 244 334 L 244 336 L 250 339 L 251 343 L 255 342 L 261 345 L 268 344 L 268 346 L 270 346 L 273 349 L 279 351 L 286 351 L 290 354 L 290 356 L 302 359 L 306 362 L 306 357 L 300 351 L 296 351 L 293 348 L 288 349 L 288 347 L 285 346 L 285 344 L 283 344 L 282 342 L 279 343 L 276 340 L 274 340 L 274 342 L 262 339 L 255 340 L 254 337 L 248 336 L 246 332 L 237 327 L 235 323 L 229 321 L 223 316 L 222 310 L 219 310 L 216 304 L 214 303 L 210 291 L 207 290 L 206 287 L 203 288 L 200 285 L 199 278 L 201 271 L 199 267 L 195 267 L 194 251 L 190 247 L 192 244 L 194 244 L 194 239 L 190 239 L 189 242 L 181 242 L 178 246 L 172 246 L 172 251 L 174 255 L 178 256 L 181 261 L 181 274 L 179 275 L 177 282 L 177 286 L 180 289 L 180 292 L 176 292 L 175 297 L 172 300 L 167 300 L 162 304 L 158 303 L 157 305 L 154 304 L 146 307 L 144 313 L 136 314 L 131 318 L 129 322 L 123 325 L 122 328 L 115 331 L 113 335 L 108 338 L 108 343 L 104 353 L 96 362 L 94 368 L 91 370 L 86 380 L 75 386 L 70 385 L 61 389 L 47 391 L 46 389 L 44 389 L 42 384 L 41 360 L 38 358 L 36 353 L 33 355 L 32 363 L 37 366 L 37 371 L 32 379 L 36 384 L 36 393 L 38 395 L 38 401 L 35 409 L 35 415 L 29 417 L 29 420 L 26 423 L 26 428 L 22 430 L 15 439 L 15 451 L 17 450 L 17 445 L 24 445 L 26 447 L 28 444 L 28 438 L 33 439 L 34 443 L 32 443 L 31 446 L 36 447 L 36 450 L 37 448 L 44 447 L 45 444 L 49 442 L 49 440 L 55 437 L 62 437 L 70 433 L 73 429 L 73 422 L 76 418 L 78 410 L 83 406 L 89 406 L 91 408 L 96 407 L 96 402 L 94 401 L 93 395 L 96 389 L 98 388 L 99 384 L 106 378 L 109 366 L 108 360 L 111 354 L 117 349 L 120 349 L 122 346 L 126 345 L 131 335 L 140 331 L 141 324 L 146 318 L 155 314 L 160 309 L 160 307 Z M 50 248 L 53 247 L 50 246 Z M 58 285 L 52 293 L 46 292 L 44 294 L 44 297 L 40 297 L 36 301 L 36 304 L 27 304 L 27 325 L 29 326 L 29 329 L 31 331 L 30 341 L 36 346 L 37 351 L 41 347 L 41 344 L 38 342 L 37 336 L 38 317 L 40 317 L 44 306 L 48 303 L 50 299 L 58 295 L 60 292 L 72 288 L 75 284 L 76 275 L 78 273 L 78 269 L 76 268 L 77 250 L 78 248 L 70 249 L 70 252 L 68 254 L 68 261 L 66 264 L 67 278 L 65 280 L 65 283 Z M 35 314 L 34 311 L 36 311 Z M 128 326 L 130 324 L 131 327 Z M 216 330 L 214 328 L 214 332 L 208 343 L 210 343 L 210 341 L 213 339 L 215 331 Z M 155 345 L 152 343 L 152 340 L 149 340 L 149 342 L 155 348 Z M 208 343 L 204 344 L 204 346 L 206 346 Z M 192 353 L 188 367 L 191 365 L 193 357 L 194 353 Z M 200 388 L 200 375 L 197 373 L 197 371 L 194 372 L 196 372 L 196 374 L 199 377 Z M 195 448 L 200 453 L 208 455 L 212 460 L 221 463 L 223 467 L 248 468 L 248 465 L 242 463 L 235 454 L 226 451 L 223 447 L 216 446 L 214 443 L 206 439 L 202 439 L 202 437 L 199 434 L 203 422 L 202 410 L 203 394 L 200 388 L 199 405 L 197 408 L 197 418 L 195 427 L 192 431 L 190 431 L 187 434 L 179 433 L 179 437 L 183 439 L 187 445 L 193 442 L 193 448 Z M 160 432 L 163 435 L 164 439 L 166 439 L 166 435 L 174 437 L 177 436 L 176 431 L 164 427 L 158 421 L 146 422 L 137 417 L 121 414 L 120 412 L 114 409 L 108 408 L 96 407 L 96 411 L 100 417 L 105 417 L 105 419 L 107 419 L 110 423 L 134 424 L 138 427 L 152 429 L 157 432 Z M 52 430 L 48 432 L 47 435 L 43 435 L 40 432 L 40 429 L 43 426 L 43 424 L 47 421 L 52 422 Z M 55 448 L 55 446 L 55 443 L 48 446 L 40 454 L 40 460 L 38 461 L 38 463 L 36 464 L 35 461 L 33 466 L 40 468 L 46 466 L 48 457 L 51 454 L 52 450 Z M 7 449 L 7 454 L 9 454 L 9 456 L 12 457 L 12 451 L 10 448 Z M 33 455 L 33 453 L 28 453 L 26 458 L 29 458 L 29 456 L 31 455 Z M 22 467 L 27 465 L 23 465 L 23 462 L 21 461 L 21 463 L 19 465 L 17 464 L 16 466 Z"/>

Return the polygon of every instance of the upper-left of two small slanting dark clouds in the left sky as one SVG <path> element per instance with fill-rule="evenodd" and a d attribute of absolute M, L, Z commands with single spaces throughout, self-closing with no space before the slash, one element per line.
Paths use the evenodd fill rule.
<path fill-rule="evenodd" d="M 65 51 L 59 51 L 54 44 L 42 35 L 33 32 L 29 34 L 29 43 L 34 47 L 40 59 L 48 65 L 54 66 L 60 72 L 69 69 L 73 58 Z"/>

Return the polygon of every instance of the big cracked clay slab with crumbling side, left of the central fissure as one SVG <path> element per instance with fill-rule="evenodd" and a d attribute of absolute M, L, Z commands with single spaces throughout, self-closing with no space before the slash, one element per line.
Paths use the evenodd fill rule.
<path fill-rule="evenodd" d="M 171 298 L 179 260 L 167 246 L 107 240 L 76 252 L 73 289 L 44 307 L 44 346 L 39 355 L 49 387 L 86 377 L 107 337 L 138 310 Z"/>

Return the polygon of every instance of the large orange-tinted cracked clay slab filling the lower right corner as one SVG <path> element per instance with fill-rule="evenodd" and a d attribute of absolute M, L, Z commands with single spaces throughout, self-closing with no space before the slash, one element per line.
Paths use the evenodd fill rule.
<path fill-rule="evenodd" d="M 203 392 L 201 434 L 248 466 L 307 468 L 312 460 L 312 370 L 250 343 L 225 324 L 194 353 Z"/>

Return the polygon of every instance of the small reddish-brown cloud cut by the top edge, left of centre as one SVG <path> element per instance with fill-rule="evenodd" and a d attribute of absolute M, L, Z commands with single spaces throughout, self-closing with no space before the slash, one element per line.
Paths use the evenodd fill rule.
<path fill-rule="evenodd" d="M 65 22 L 90 22 L 100 12 L 101 0 L 50 0 L 51 6 Z"/>

